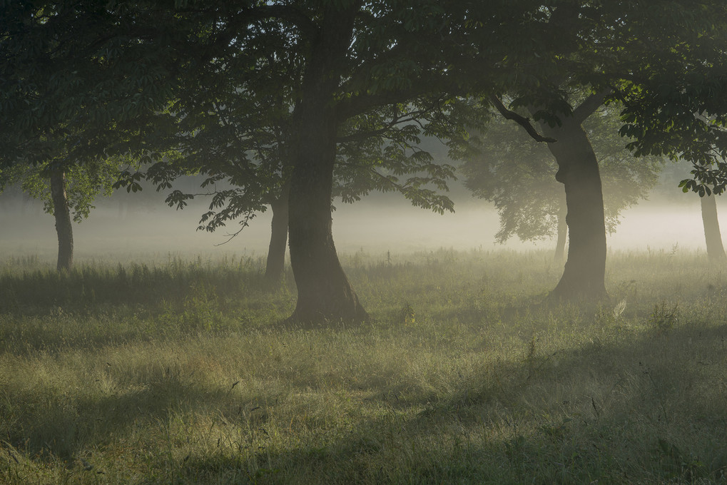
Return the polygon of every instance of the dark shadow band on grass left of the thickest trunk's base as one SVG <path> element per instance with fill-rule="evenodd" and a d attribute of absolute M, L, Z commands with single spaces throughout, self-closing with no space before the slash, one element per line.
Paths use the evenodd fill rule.
<path fill-rule="evenodd" d="M 92 350 L 198 333 L 273 324 L 292 296 L 260 289 L 246 265 L 76 268 L 0 275 L 0 353 Z"/>

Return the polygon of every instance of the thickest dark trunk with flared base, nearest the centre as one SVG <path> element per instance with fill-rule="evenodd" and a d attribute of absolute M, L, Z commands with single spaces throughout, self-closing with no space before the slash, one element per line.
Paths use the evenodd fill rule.
<path fill-rule="evenodd" d="M 331 199 L 336 157 L 337 109 L 334 93 L 339 63 L 353 32 L 357 6 L 331 7 L 310 45 L 297 113 L 294 169 L 290 182 L 290 262 L 298 300 L 292 321 L 364 321 L 341 268 L 333 242 Z"/>

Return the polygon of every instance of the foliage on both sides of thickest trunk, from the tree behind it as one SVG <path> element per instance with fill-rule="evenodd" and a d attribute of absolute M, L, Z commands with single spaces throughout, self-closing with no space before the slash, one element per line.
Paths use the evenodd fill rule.
<path fill-rule="evenodd" d="M 247 26 L 249 36 L 238 36 L 227 47 L 215 44 L 214 59 L 197 65 L 194 74 L 185 79 L 180 97 L 171 108 L 180 117 L 177 142 L 182 159 L 158 162 L 144 174 L 126 174 L 127 180 L 120 185 L 131 186 L 143 176 L 166 189 L 172 188 L 172 180 L 180 175 L 205 175 L 200 193 L 174 190 L 167 202 L 182 208 L 196 196 L 210 196 L 209 212 L 199 226 L 207 231 L 236 218 L 244 227 L 256 212 L 264 211 L 271 200 L 281 197 L 296 151 L 296 129 L 300 124 L 297 113 L 304 101 L 300 99 L 302 74 L 309 55 L 306 46 L 313 39 L 305 12 L 289 6 L 275 7 L 278 9 L 258 6 L 257 16 L 250 12 L 253 20 Z M 419 7 L 425 15 L 431 15 L 425 7 Z M 362 9 L 361 22 L 371 22 L 367 9 L 377 8 L 380 14 L 391 16 L 413 13 L 383 2 Z M 282 15 L 283 11 L 288 15 Z M 310 19 L 311 23 L 315 21 Z M 382 19 L 381 23 L 391 28 L 388 21 Z M 228 19 L 217 22 L 222 31 L 233 28 Z M 407 23 L 414 28 L 409 20 Z M 379 45 L 382 39 L 371 36 L 363 26 L 357 25 L 356 30 L 353 53 L 361 56 L 361 63 L 366 60 L 359 67 L 367 68 L 368 63 L 377 62 L 369 49 L 387 47 Z M 205 44 L 215 38 L 199 41 Z M 393 65 L 378 68 L 376 76 L 389 75 L 387 70 L 403 75 L 400 57 L 403 54 L 397 53 L 393 60 L 382 60 Z M 410 59 L 406 66 L 413 68 Z M 446 190 L 453 169 L 433 160 L 419 146 L 421 136 L 447 137 L 451 130 L 459 129 L 444 116 L 447 108 L 441 93 L 433 94 L 433 99 L 414 99 L 422 93 L 422 87 L 410 87 L 406 92 L 396 92 L 396 96 L 411 98 L 411 103 L 390 103 L 378 96 L 380 92 L 396 91 L 399 81 L 379 85 L 377 79 L 367 80 L 367 76 L 372 74 L 358 73 L 356 69 L 342 74 L 342 86 L 335 95 L 340 98 L 337 102 L 342 126 L 334 193 L 345 202 L 353 202 L 372 190 L 398 191 L 414 205 L 436 212 L 451 211 L 451 201 L 438 191 Z M 366 92 L 358 86 L 363 82 L 371 83 Z"/>

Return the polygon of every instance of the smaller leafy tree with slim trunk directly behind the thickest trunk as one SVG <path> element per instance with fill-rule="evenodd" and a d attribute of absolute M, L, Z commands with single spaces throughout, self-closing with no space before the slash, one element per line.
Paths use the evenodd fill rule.
<path fill-rule="evenodd" d="M 289 32 L 283 35 L 284 26 L 276 23 L 264 30 L 272 36 L 270 42 L 263 43 L 265 46 L 276 39 L 291 38 Z M 289 44 L 278 49 L 287 56 L 294 52 Z M 261 65 L 270 72 L 260 69 Z M 117 184 L 132 187 L 135 180 L 146 177 L 158 189 L 169 189 L 177 177 L 204 175 L 201 191 L 173 190 L 167 203 L 182 209 L 190 199 L 211 197 L 209 211 L 202 216 L 198 229 L 214 232 L 238 220 L 241 228 L 228 234 L 230 239 L 257 212 L 270 207 L 273 222 L 265 270 L 269 288 L 278 285 L 284 268 L 293 166 L 289 140 L 297 106 L 297 100 L 289 96 L 271 94 L 270 86 L 282 76 L 276 71 L 280 65 L 289 68 L 295 63 L 241 47 L 218 52 L 214 63 L 202 66 L 196 76 L 187 79 L 180 98 L 172 105 L 180 118 L 177 149 L 182 156 L 158 161 L 146 172 L 125 172 Z M 446 179 L 453 176 L 453 167 L 434 163 L 430 154 L 417 146 L 422 134 L 448 136 L 452 127 L 446 118 L 432 116 L 438 108 L 383 106 L 342 123 L 335 140 L 333 195 L 353 202 L 370 191 L 398 191 L 414 205 L 437 212 L 451 211 L 451 201 L 427 185 L 446 190 Z M 401 180 L 407 175 L 406 180 Z"/>

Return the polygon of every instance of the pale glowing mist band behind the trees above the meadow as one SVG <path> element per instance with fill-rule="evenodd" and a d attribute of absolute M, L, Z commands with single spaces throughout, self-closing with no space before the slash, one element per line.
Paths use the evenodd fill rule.
<path fill-rule="evenodd" d="M 505 245 L 494 243 L 499 229 L 497 212 L 491 204 L 473 199 L 457 183 L 452 185 L 454 214 L 438 215 L 411 207 L 395 194 L 373 194 L 356 204 L 335 201 L 333 232 L 340 252 L 395 253 L 440 247 L 453 249 L 552 249 L 555 241 L 523 243 L 511 239 Z M 652 191 L 649 200 L 623 212 L 615 234 L 608 236 L 609 249 L 672 251 L 704 250 L 704 233 L 699 197 L 681 193 L 672 180 Z M 238 237 L 223 244 L 225 234 L 237 230 L 228 225 L 217 233 L 196 231 L 204 201 L 193 201 L 184 210 L 164 204 L 164 195 L 152 189 L 137 194 L 125 191 L 96 201 L 88 220 L 74 224 L 76 260 L 128 260 L 134 257 L 164 257 L 171 253 L 204 256 L 246 254 L 265 256 L 270 237 L 268 211 L 258 215 Z M 722 206 L 718 199 L 718 211 Z M 727 209 L 720 213 L 720 225 L 727 227 Z M 16 189 L 0 194 L 0 259 L 37 254 L 55 261 L 57 239 L 51 215 L 39 201 Z M 145 259 L 145 258 L 142 258 Z"/>

